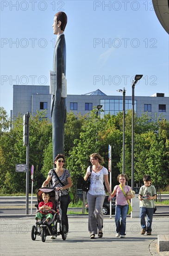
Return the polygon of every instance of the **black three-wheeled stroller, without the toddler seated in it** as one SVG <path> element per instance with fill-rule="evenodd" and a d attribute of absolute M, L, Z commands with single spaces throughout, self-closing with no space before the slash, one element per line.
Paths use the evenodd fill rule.
<path fill-rule="evenodd" d="M 38 189 L 37 199 L 38 203 L 35 205 L 38 209 L 39 202 L 42 202 L 42 193 L 48 193 L 50 195 L 50 202 L 53 204 L 53 209 L 50 209 L 52 212 L 52 219 L 49 222 L 44 224 L 45 218 L 41 220 L 42 224 L 39 225 L 39 222 L 36 222 L 36 225 L 32 226 L 31 229 L 31 239 L 36 240 L 36 236 L 41 236 L 42 242 L 45 242 L 46 236 L 59 236 L 62 235 L 62 239 L 66 240 L 66 226 L 62 226 L 61 215 L 60 215 L 60 197 L 61 191 L 56 191 L 50 187 L 44 187 Z M 37 212 L 40 212 L 38 209 Z M 46 214 L 49 211 L 46 212 Z"/>

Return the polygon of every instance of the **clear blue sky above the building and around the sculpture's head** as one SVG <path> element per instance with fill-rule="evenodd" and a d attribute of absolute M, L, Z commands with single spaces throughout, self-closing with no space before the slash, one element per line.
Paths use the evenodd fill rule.
<path fill-rule="evenodd" d="M 56 36 L 55 13 L 68 16 L 67 93 L 100 89 L 136 96 L 169 97 L 169 36 L 151 0 L 1 0 L 0 106 L 13 109 L 13 84 L 49 85 Z M 122 96 L 122 95 L 121 95 Z"/>

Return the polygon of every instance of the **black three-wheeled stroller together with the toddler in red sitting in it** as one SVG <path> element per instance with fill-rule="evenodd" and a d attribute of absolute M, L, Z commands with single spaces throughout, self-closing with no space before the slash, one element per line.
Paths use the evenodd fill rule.
<path fill-rule="evenodd" d="M 42 209 L 43 195 L 48 194 L 49 202 L 48 209 L 44 207 L 43 214 L 40 213 Z M 46 236 L 59 236 L 62 235 L 62 239 L 66 240 L 66 226 L 62 225 L 61 216 L 60 216 L 60 197 L 61 191 L 57 191 L 50 187 L 44 187 L 38 189 L 37 198 L 38 202 L 35 205 L 37 207 L 36 214 L 36 225 L 32 226 L 31 229 L 31 239 L 36 240 L 36 236 L 41 236 L 42 242 L 45 242 Z M 53 209 L 50 207 L 53 206 Z M 46 209 L 45 209 L 46 208 Z M 42 215 L 40 215 L 42 214 Z M 42 216 L 42 218 L 41 218 Z M 44 218 L 45 216 L 45 218 Z M 51 217 L 51 218 L 50 218 Z"/>

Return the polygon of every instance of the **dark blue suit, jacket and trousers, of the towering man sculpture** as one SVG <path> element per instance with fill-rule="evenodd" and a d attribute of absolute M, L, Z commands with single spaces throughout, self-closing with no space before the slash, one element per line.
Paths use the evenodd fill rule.
<path fill-rule="evenodd" d="M 66 42 L 64 34 L 56 40 L 53 55 L 53 71 L 56 72 L 56 91 L 51 95 L 53 159 L 64 150 L 64 123 L 66 122 L 66 98 L 61 97 L 62 74 L 66 76 Z"/>

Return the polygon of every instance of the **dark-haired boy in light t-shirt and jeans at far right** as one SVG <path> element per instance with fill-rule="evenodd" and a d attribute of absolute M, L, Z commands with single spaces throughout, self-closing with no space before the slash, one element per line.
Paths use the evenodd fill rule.
<path fill-rule="evenodd" d="M 147 231 L 147 235 L 151 235 L 151 224 L 154 213 L 154 199 L 156 199 L 156 189 L 151 185 L 151 176 L 144 175 L 144 185 L 139 190 L 140 200 L 140 222 L 141 222 L 141 235 L 144 235 Z M 145 222 L 145 216 L 147 216 L 147 228 Z"/>

